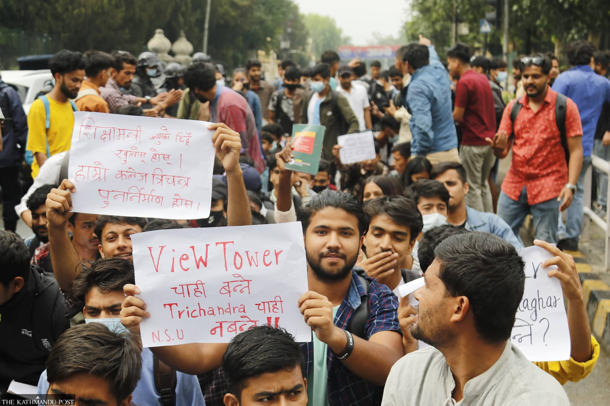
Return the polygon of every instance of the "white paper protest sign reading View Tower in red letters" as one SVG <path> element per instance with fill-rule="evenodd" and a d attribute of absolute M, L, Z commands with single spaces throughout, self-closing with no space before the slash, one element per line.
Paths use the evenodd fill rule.
<path fill-rule="evenodd" d="M 140 324 L 143 346 L 228 343 L 261 324 L 311 340 L 297 306 L 308 290 L 300 222 L 131 237 L 138 297 L 151 315 Z"/>

